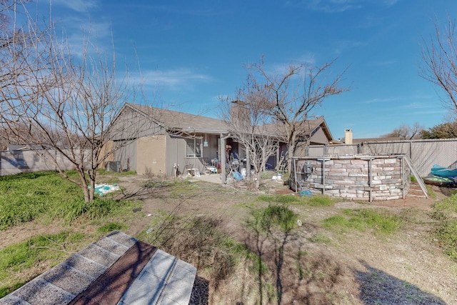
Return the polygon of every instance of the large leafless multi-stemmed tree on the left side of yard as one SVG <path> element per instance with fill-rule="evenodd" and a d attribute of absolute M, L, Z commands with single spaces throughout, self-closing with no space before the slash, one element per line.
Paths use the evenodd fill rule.
<path fill-rule="evenodd" d="M 40 31 L 26 16 L 31 44 L 22 47 L 25 51 L 15 44 L 3 49 L 9 61 L 2 68 L 13 81 L 0 81 L 2 127 L 16 144 L 34 144 L 29 147 L 80 186 L 85 201 L 92 201 L 97 169 L 139 133 L 131 117 L 115 127 L 109 124 L 126 102 L 139 102 L 144 96 L 129 83 L 128 71 L 121 77 L 116 74 L 114 46 L 112 54 L 101 52 L 89 33 L 82 58 L 75 59 L 53 26 Z M 29 69 L 21 70 L 22 65 Z M 116 145 L 114 138 L 119 139 Z M 67 174 L 60 157 L 73 164 L 76 178 Z"/>

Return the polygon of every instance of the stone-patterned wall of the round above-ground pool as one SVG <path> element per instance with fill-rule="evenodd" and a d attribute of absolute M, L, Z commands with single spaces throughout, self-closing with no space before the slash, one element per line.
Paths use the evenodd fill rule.
<path fill-rule="evenodd" d="M 404 199 L 409 191 L 411 170 L 403 164 L 403 155 L 322 156 L 293 161 L 294 191 L 309 189 L 360 201 Z"/>

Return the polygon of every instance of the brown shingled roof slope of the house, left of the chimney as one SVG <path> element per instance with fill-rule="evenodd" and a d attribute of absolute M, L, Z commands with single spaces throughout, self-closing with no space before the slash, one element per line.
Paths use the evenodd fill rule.
<path fill-rule="evenodd" d="M 136 111 L 140 111 L 157 124 L 174 131 L 221 134 L 226 133 L 229 130 L 229 126 L 219 119 L 138 104 L 126 104 L 126 106 Z"/>

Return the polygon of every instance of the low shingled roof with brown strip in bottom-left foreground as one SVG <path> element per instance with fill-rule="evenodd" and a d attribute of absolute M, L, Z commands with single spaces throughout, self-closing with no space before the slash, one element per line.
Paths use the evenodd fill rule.
<path fill-rule="evenodd" d="M 0 299 L 0 304 L 189 304 L 196 268 L 119 231 Z"/>

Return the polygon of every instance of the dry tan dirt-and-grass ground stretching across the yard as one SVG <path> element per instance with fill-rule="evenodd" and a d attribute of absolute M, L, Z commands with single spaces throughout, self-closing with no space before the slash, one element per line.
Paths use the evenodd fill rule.
<path fill-rule="evenodd" d="M 400 217 L 402 225 L 390 234 L 376 234 L 372 225 L 358 230 L 323 224 L 337 215 L 353 219 L 351 224 L 371 224 L 373 217 L 356 216 L 371 215 L 363 209 L 375 204 L 334 204 L 320 196 L 311 197 L 316 201 L 311 203 L 293 194 L 275 196 L 281 186 L 277 182 L 259 196 L 239 185 L 233 189 L 191 179 L 125 179 L 119 177 L 125 187 L 122 195 L 141 200 L 129 208 L 141 206 L 141 211 L 103 221 L 85 219 L 74 222 L 72 229 L 95 238 L 97 229 L 122 225 L 127 234 L 193 264 L 198 277 L 191 304 L 457 304 L 457 265 L 443 254 L 433 234 L 442 214 L 431 217 L 429 201 L 423 209 L 405 208 L 418 199 L 387 203 L 391 205 L 383 209 Z M 246 226 L 255 211 L 268 211 L 273 204 L 288 207 L 303 225 L 267 230 Z M 149 214 L 153 219 L 146 217 Z M 149 228 L 152 232 L 146 233 Z M 3 231 L 0 246 L 65 229 L 63 221 L 59 226 L 33 221 Z"/>

